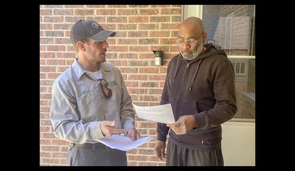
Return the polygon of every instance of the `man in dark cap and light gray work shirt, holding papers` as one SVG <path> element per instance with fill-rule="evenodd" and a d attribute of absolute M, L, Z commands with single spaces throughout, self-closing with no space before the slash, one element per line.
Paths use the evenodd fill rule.
<path fill-rule="evenodd" d="M 78 57 L 55 80 L 50 111 L 55 136 L 71 142 L 68 166 L 127 166 L 126 151 L 98 140 L 121 133 L 133 141 L 140 138 L 122 75 L 117 67 L 104 63 L 106 39 L 115 35 L 92 20 L 79 20 L 71 28 Z"/>

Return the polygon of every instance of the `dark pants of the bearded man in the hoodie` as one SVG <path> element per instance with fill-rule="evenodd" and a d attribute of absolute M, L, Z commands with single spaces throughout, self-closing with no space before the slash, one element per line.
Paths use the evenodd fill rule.
<path fill-rule="evenodd" d="M 223 166 L 221 148 L 198 151 L 178 146 L 168 141 L 166 166 Z"/>

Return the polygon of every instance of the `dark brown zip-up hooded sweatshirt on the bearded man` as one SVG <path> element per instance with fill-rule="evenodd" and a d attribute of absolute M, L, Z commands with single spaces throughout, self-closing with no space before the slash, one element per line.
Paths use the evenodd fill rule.
<path fill-rule="evenodd" d="M 198 150 L 221 147 L 221 125 L 236 114 L 234 68 L 224 50 L 212 44 L 194 60 L 173 57 L 167 68 L 161 105 L 170 103 L 175 120 L 193 115 L 197 126 L 185 135 L 170 130 L 177 145 Z M 157 123 L 157 140 L 166 142 L 169 127 Z"/>

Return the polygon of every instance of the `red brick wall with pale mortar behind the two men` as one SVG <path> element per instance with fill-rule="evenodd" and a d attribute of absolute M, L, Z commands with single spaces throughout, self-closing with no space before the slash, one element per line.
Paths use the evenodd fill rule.
<path fill-rule="evenodd" d="M 40 165 L 65 166 L 69 142 L 53 134 L 49 119 L 51 88 L 76 53 L 70 44 L 71 26 L 92 19 L 116 30 L 108 39 L 107 63 L 117 66 L 133 102 L 158 105 L 169 60 L 177 55 L 175 39 L 181 20 L 180 5 L 40 5 Z M 164 51 L 164 65 L 156 66 L 152 50 Z M 155 155 L 156 123 L 136 117 L 142 137 L 154 140 L 127 151 L 128 166 L 164 166 Z"/>

